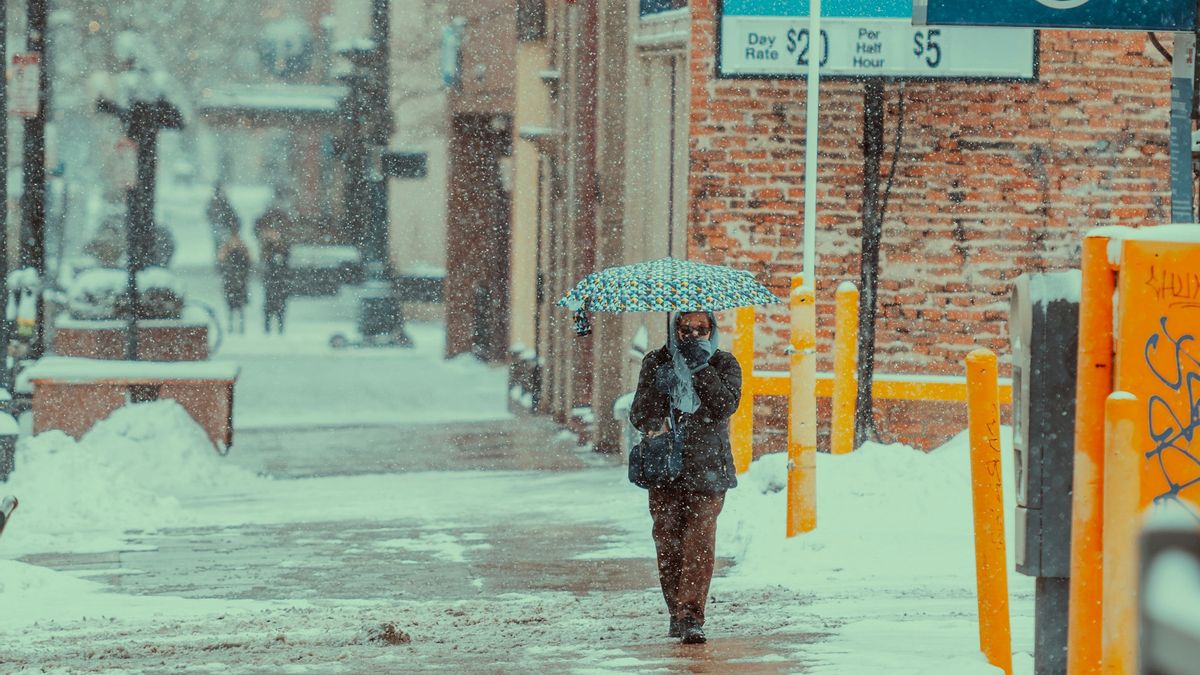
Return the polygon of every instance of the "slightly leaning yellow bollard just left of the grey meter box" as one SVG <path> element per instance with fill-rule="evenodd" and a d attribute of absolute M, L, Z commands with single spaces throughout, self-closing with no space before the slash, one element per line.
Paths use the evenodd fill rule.
<path fill-rule="evenodd" d="M 1004 491 L 1000 470 L 1000 384 L 996 354 L 967 354 L 967 430 L 971 436 L 971 504 L 976 531 L 979 649 L 988 663 L 1013 673 L 1004 557 Z"/>

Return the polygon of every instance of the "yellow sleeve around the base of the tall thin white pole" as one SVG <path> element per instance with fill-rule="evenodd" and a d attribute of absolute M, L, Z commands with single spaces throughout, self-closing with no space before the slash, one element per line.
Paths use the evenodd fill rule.
<path fill-rule="evenodd" d="M 817 526 L 817 307 L 812 286 L 792 277 L 792 394 L 787 407 L 787 536 Z"/>

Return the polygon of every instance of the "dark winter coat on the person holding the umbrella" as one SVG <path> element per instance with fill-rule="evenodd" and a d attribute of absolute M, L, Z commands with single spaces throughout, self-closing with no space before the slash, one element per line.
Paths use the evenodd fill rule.
<path fill-rule="evenodd" d="M 667 347 L 655 350 L 642 359 L 637 392 L 629 419 L 643 434 L 656 432 L 671 407 L 665 392 L 655 386 L 655 371 L 671 366 Z M 742 366 L 728 352 L 718 350 L 708 366 L 692 375 L 692 387 L 700 398 L 700 408 L 682 417 L 683 472 L 671 488 L 695 492 L 720 492 L 738 484 L 730 444 L 730 417 L 742 401 Z"/>

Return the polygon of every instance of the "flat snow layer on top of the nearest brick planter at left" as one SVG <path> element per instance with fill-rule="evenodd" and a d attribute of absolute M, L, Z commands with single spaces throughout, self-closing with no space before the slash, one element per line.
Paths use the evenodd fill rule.
<path fill-rule="evenodd" d="M 43 357 L 20 374 L 25 382 L 144 382 L 148 380 L 236 380 L 241 369 L 232 362 L 126 362 Z"/>

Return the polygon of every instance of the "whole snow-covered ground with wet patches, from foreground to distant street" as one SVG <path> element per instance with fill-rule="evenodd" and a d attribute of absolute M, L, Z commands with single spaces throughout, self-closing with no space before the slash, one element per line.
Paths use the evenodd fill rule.
<path fill-rule="evenodd" d="M 226 341 L 227 458 L 169 401 L 23 443 L 0 670 L 996 673 L 962 437 L 820 455 L 818 528 L 793 539 L 785 458 L 757 460 L 721 514 L 709 643 L 684 646 L 619 461 L 509 414 L 504 370 L 443 360 L 437 323 L 414 350 L 330 350 L 353 311 L 296 299 L 286 336 Z M 1032 581 L 1010 592 L 1031 673 Z"/>

